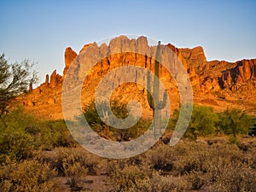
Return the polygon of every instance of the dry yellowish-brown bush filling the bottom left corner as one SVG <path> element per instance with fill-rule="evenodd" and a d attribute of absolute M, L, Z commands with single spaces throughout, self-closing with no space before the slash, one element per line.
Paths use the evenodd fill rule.
<path fill-rule="evenodd" d="M 38 160 L 23 160 L 1 166 L 0 190 L 6 192 L 50 192 L 58 191 L 55 181 L 56 172 L 49 164 Z"/>

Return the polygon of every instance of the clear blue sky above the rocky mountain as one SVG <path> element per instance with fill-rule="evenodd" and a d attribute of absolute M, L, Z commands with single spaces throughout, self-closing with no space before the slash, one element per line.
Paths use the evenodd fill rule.
<path fill-rule="evenodd" d="M 40 80 L 64 51 L 121 34 L 193 48 L 207 60 L 256 58 L 256 1 L 0 1 L 0 54 L 37 62 Z M 40 82 L 41 83 L 41 82 Z"/>

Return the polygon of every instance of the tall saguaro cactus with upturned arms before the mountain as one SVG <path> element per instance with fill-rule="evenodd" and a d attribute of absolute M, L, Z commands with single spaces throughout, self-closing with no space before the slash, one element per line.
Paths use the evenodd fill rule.
<path fill-rule="evenodd" d="M 150 72 L 148 71 L 147 74 L 147 98 L 148 98 L 148 104 L 149 107 L 153 109 L 153 130 L 154 130 L 154 137 L 159 133 L 161 128 L 161 122 L 160 122 L 160 110 L 163 108 L 166 108 L 166 102 L 167 102 L 167 90 L 165 90 L 163 100 L 160 101 L 160 41 L 158 42 L 157 49 L 156 49 L 156 55 L 155 55 L 155 61 L 154 61 L 154 81 L 153 85 L 151 85 L 151 78 L 150 78 Z M 153 89 L 153 90 L 152 90 Z M 150 94 L 152 93 L 152 95 Z"/>

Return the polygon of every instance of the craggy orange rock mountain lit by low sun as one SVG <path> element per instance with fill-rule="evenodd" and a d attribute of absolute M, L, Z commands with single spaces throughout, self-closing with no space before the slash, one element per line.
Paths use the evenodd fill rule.
<path fill-rule="evenodd" d="M 57 74 L 56 71 L 50 76 L 47 74 L 43 84 L 29 93 L 19 96 L 18 102 L 39 117 L 61 119 L 61 90 L 67 75 L 77 74 L 74 76 L 74 80 L 84 82 L 81 91 L 81 105 L 84 106 L 93 100 L 96 86 L 101 79 L 117 67 L 136 65 L 154 72 L 154 58 L 152 56 L 155 49 L 155 46 L 148 45 L 148 40 L 145 37 L 129 39 L 125 36 L 113 38 L 109 45 L 85 44 L 79 54 L 68 47 L 64 55 L 63 74 Z M 225 108 L 241 108 L 247 113 L 256 114 L 256 59 L 236 62 L 207 61 L 201 46 L 193 49 L 179 49 L 172 44 L 166 44 L 161 45 L 161 61 L 166 60 L 165 52 L 167 49 L 172 49 L 179 61 L 183 63 L 183 67 L 189 75 L 196 104 L 212 106 L 217 111 Z M 120 50 L 119 54 L 111 54 L 117 50 Z M 127 52 L 126 50 L 130 51 Z M 137 50 L 143 50 L 145 54 L 138 54 L 136 53 Z M 83 79 L 86 68 L 83 63 L 96 61 L 96 58 L 101 55 L 108 56 L 98 61 Z M 178 75 L 178 70 L 175 75 Z M 114 87 L 124 77 L 125 74 L 123 73 L 114 73 L 113 82 L 110 83 Z M 135 75 L 134 79 L 137 78 Z M 140 78 L 146 80 L 146 74 Z M 172 110 L 178 108 L 180 98 L 177 84 L 172 75 L 162 66 L 160 67 L 160 79 L 164 81 L 169 96 L 172 97 Z M 109 86 L 112 86 L 111 84 Z M 146 89 L 141 85 L 120 84 L 113 91 L 112 98 L 120 102 L 137 100 L 145 108 L 144 115 L 151 114 Z"/>

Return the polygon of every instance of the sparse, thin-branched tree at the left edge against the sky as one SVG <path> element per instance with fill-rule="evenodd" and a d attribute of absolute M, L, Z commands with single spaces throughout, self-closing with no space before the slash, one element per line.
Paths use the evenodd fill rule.
<path fill-rule="evenodd" d="M 0 119 L 6 126 L 3 114 L 8 113 L 9 102 L 26 91 L 28 85 L 35 83 L 38 78 L 32 70 L 33 64 L 28 60 L 9 64 L 4 56 L 0 55 Z"/>

